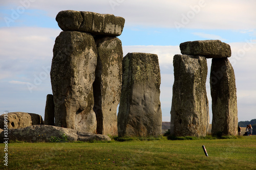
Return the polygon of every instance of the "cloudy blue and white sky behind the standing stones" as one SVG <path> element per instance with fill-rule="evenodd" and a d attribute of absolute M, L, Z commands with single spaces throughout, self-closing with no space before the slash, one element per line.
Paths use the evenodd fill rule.
<path fill-rule="evenodd" d="M 236 75 L 238 120 L 256 118 L 255 0 L 8 0 L 0 2 L 0 114 L 29 112 L 44 118 L 52 94 L 50 68 L 59 11 L 91 11 L 125 18 L 118 38 L 123 55 L 153 53 L 161 70 L 162 120 L 170 121 L 173 56 L 186 41 L 219 39 L 231 46 Z M 206 91 L 212 119 L 207 59 Z"/>

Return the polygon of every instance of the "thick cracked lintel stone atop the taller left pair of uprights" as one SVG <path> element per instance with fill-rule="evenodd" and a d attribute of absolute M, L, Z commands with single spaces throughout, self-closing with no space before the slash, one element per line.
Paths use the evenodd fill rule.
<path fill-rule="evenodd" d="M 63 31 L 83 31 L 92 35 L 119 36 L 124 27 L 124 18 L 112 14 L 86 11 L 60 11 L 56 16 Z"/>

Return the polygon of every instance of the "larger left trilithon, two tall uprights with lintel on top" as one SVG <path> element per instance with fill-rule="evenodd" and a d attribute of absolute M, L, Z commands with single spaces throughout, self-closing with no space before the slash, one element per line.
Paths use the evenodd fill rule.
<path fill-rule="evenodd" d="M 56 21 L 64 32 L 56 38 L 51 68 L 55 125 L 116 135 L 122 46 L 114 36 L 121 35 L 124 18 L 67 10 Z"/>

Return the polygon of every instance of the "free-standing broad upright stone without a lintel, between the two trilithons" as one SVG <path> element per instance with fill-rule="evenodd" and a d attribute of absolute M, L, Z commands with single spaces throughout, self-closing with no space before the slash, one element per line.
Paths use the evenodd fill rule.
<path fill-rule="evenodd" d="M 128 53 L 122 63 L 118 136 L 161 135 L 161 77 L 157 55 Z"/>

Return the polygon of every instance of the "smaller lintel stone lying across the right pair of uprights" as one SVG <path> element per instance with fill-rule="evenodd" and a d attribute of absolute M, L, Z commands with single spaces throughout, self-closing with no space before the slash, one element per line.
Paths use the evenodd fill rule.
<path fill-rule="evenodd" d="M 220 40 L 187 41 L 180 44 L 181 54 L 202 55 L 206 58 L 231 57 L 229 44 Z"/>

